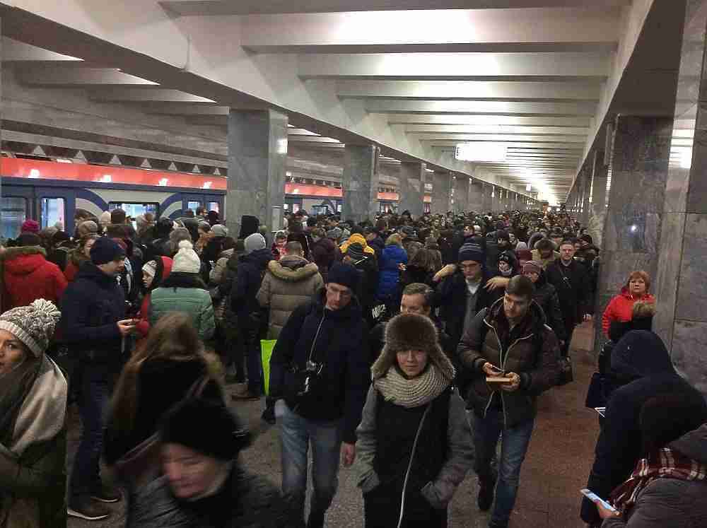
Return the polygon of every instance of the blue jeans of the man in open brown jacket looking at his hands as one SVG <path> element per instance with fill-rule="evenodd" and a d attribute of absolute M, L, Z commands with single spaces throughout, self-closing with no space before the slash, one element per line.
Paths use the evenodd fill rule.
<path fill-rule="evenodd" d="M 474 470 L 479 480 L 488 481 L 491 476 L 491 459 L 496 454 L 496 444 L 501 436 L 501 459 L 498 460 L 498 480 L 496 481 L 496 501 L 493 504 L 490 527 L 507 527 L 510 512 L 518 494 L 520 467 L 525 460 L 534 419 L 519 423 L 515 427 L 503 426 L 503 412 L 489 409 L 486 418 L 474 413 L 474 447 L 477 459 Z"/>

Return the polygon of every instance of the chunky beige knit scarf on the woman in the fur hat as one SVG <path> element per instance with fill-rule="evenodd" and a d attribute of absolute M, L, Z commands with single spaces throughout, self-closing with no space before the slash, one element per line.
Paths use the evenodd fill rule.
<path fill-rule="evenodd" d="M 451 382 L 452 380 L 445 377 L 434 363 L 429 363 L 425 372 L 411 380 L 392 366 L 385 376 L 375 380 L 373 385 L 385 401 L 411 409 L 428 404 L 442 394 Z"/>

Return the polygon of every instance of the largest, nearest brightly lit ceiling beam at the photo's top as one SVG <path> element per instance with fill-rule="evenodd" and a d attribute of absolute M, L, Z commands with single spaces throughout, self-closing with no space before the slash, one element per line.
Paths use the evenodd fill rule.
<path fill-rule="evenodd" d="M 621 31 L 619 8 L 294 13 L 241 21 L 241 44 L 259 53 L 609 52 Z"/>

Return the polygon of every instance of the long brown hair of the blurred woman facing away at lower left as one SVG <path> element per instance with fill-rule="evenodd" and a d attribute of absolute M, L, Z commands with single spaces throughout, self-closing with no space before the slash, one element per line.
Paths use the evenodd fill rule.
<path fill-rule="evenodd" d="M 206 372 L 221 384 L 221 365 L 214 353 L 204 351 L 204 345 L 194 329 L 192 319 L 184 312 L 171 312 L 160 317 L 123 367 L 113 394 L 111 410 L 115 428 L 132 431 L 139 402 L 137 385 L 145 363 L 153 360 L 204 362 Z"/>

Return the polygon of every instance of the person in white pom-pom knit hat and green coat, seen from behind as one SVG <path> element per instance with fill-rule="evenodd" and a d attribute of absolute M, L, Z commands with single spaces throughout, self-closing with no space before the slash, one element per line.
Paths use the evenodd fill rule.
<path fill-rule="evenodd" d="M 150 325 L 168 312 L 185 312 L 192 317 L 199 339 L 214 335 L 214 304 L 199 277 L 201 260 L 192 242 L 182 240 L 172 261 L 172 272 L 151 294 Z"/>

